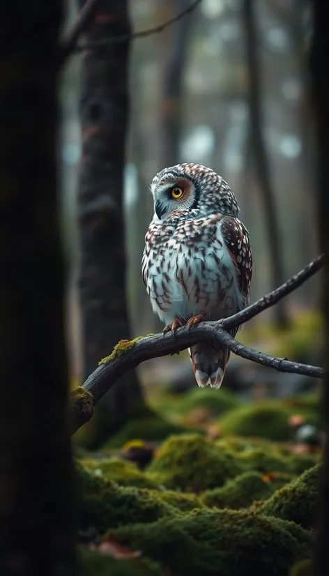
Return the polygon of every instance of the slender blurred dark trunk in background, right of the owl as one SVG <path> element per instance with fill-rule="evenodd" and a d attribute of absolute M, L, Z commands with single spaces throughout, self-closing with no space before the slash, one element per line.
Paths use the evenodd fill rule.
<path fill-rule="evenodd" d="M 280 227 L 275 206 L 275 193 L 271 183 L 270 167 L 266 156 L 266 146 L 263 140 L 263 126 L 261 114 L 261 79 L 259 74 L 259 50 L 257 43 L 257 26 L 255 24 L 254 0 L 243 1 L 243 18 L 245 22 L 246 59 L 249 82 L 249 110 L 250 130 L 254 168 L 256 169 L 261 202 L 263 203 L 263 216 L 268 230 L 268 257 L 272 272 L 271 289 L 283 284 L 284 266 L 282 260 L 282 247 L 280 243 Z M 289 325 L 286 302 L 280 301 L 275 307 L 275 319 L 282 328 Z"/>

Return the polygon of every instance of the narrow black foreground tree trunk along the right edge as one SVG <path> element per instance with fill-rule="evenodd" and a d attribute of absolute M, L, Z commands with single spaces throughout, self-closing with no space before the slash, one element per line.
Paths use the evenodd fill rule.
<path fill-rule="evenodd" d="M 321 250 L 329 255 L 329 187 L 328 187 L 328 158 L 329 158 L 329 75 L 326 60 L 323 54 L 328 53 L 328 20 L 326 6 L 320 1 L 313 2 L 314 7 L 314 43 L 311 52 L 312 70 L 312 96 L 314 105 L 314 120 L 316 124 L 317 146 L 317 190 L 319 209 L 319 228 Z M 326 322 L 325 346 L 323 361 L 329 374 L 329 267 L 328 262 L 323 271 L 323 314 Z M 326 434 L 323 455 L 323 478 L 320 501 L 320 533 L 319 547 L 316 562 L 316 576 L 329 574 L 329 377 L 323 381 L 322 386 L 322 425 Z"/>

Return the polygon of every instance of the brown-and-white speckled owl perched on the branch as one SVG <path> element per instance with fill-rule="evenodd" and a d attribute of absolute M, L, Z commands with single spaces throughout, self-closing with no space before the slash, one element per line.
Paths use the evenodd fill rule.
<path fill-rule="evenodd" d="M 245 308 L 252 252 L 229 185 L 210 168 L 185 163 L 158 172 L 151 192 L 154 215 L 145 236 L 142 276 L 164 333 Z M 220 388 L 229 350 L 199 342 L 189 352 L 197 384 Z"/>

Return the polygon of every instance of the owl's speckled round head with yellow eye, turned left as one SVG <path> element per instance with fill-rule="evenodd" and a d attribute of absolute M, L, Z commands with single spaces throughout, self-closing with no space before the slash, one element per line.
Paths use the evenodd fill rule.
<path fill-rule="evenodd" d="M 229 185 L 200 164 L 164 168 L 154 176 L 151 192 L 159 220 L 174 211 L 192 210 L 197 217 L 213 213 L 238 216 L 238 203 Z"/>

